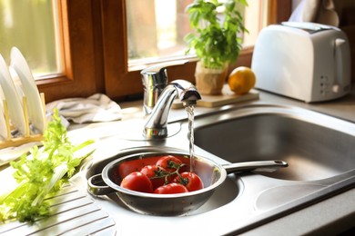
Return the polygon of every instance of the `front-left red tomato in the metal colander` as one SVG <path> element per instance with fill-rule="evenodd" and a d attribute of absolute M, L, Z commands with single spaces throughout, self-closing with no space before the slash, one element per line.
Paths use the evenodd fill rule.
<path fill-rule="evenodd" d="M 153 192 L 153 184 L 146 174 L 131 172 L 121 182 L 121 187 L 137 192 Z"/>

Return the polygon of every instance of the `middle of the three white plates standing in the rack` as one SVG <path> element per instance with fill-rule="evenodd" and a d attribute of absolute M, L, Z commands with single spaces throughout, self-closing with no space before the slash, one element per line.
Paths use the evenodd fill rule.
<path fill-rule="evenodd" d="M 25 134 L 26 123 L 25 114 L 22 107 L 22 100 L 19 98 L 16 90 L 15 84 L 11 78 L 8 71 L 7 64 L 5 63 L 4 57 L 0 54 L 0 85 L 3 89 L 5 100 L 7 103 L 8 113 L 11 123 L 14 124 L 15 128 L 19 130 L 20 133 Z"/>

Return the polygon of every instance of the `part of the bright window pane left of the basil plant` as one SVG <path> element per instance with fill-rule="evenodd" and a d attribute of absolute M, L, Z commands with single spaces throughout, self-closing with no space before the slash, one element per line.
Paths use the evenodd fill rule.
<path fill-rule="evenodd" d="M 191 0 L 129 0 L 127 34 L 129 64 L 184 55 L 189 30 L 185 7 Z"/>

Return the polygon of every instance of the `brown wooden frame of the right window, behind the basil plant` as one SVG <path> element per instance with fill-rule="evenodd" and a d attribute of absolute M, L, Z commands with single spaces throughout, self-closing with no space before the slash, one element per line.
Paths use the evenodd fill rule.
<path fill-rule="evenodd" d="M 287 20 L 289 18 L 291 10 L 290 0 L 253 0 L 249 2 L 254 1 L 261 4 L 268 2 L 268 24 Z M 130 6 L 127 5 L 131 5 L 132 2 L 135 1 L 107 0 L 102 2 L 102 12 L 104 13 L 102 16 L 106 94 L 110 97 L 117 97 L 117 99 L 120 100 L 125 99 L 125 96 L 127 95 L 142 93 L 142 83 L 139 75 L 139 70 L 141 70 L 142 67 L 136 65 L 135 68 L 132 69 L 130 64 L 128 64 L 129 54 L 127 48 L 129 48 L 129 43 L 127 38 L 129 37 L 129 34 L 127 34 L 127 28 L 129 28 L 130 25 L 126 22 L 126 20 L 129 21 L 129 13 L 126 9 L 129 9 Z M 140 2 L 144 2 L 144 0 L 140 0 Z M 191 3 L 192 1 L 179 0 L 177 2 Z M 176 8 L 178 9 L 178 7 Z M 122 17 L 117 17 L 117 13 L 122 13 Z M 154 8 L 149 10 L 146 8 L 145 15 L 147 15 L 147 13 L 154 14 Z M 269 17 L 269 15 L 273 15 L 273 17 Z M 254 15 L 254 17 L 256 17 L 258 21 L 261 18 L 259 15 Z M 140 37 L 140 40 L 146 40 L 144 35 Z M 252 46 L 248 47 L 240 54 L 238 63 L 231 66 L 237 66 L 240 64 L 250 65 L 252 51 Z M 149 64 L 149 62 L 146 63 L 147 65 Z M 185 65 L 170 67 L 168 75 L 170 80 L 186 79 L 194 82 L 194 72 L 195 62 L 191 62 Z"/>

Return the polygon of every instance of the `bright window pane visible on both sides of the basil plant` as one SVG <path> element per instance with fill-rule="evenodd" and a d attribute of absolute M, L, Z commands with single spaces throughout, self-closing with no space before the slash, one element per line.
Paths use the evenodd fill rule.
<path fill-rule="evenodd" d="M 220 0 L 223 2 L 223 0 Z M 128 64 L 130 67 L 185 55 L 184 36 L 190 31 L 185 8 L 193 0 L 127 0 Z M 249 34 L 243 45 L 253 45 L 266 25 L 267 0 L 238 5 Z"/>

